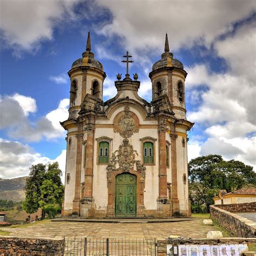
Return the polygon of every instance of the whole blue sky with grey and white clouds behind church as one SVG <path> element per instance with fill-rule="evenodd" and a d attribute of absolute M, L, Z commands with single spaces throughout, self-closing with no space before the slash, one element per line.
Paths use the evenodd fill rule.
<path fill-rule="evenodd" d="M 187 119 L 195 122 L 188 157 L 221 154 L 255 170 L 256 2 L 254 0 L 31 1 L 1 0 L 1 169 L 0 178 L 29 173 L 29 166 L 58 160 L 65 170 L 65 131 L 70 82 L 67 72 L 92 51 L 107 78 L 125 73 L 129 50 L 139 95 L 151 101 L 148 77 L 170 50 L 188 72 Z"/>

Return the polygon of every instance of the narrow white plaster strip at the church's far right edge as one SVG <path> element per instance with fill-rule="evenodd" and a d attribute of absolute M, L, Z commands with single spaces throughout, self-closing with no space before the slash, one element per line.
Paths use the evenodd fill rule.
<path fill-rule="evenodd" d="M 182 138 L 176 139 L 177 149 L 177 186 L 179 207 L 181 211 L 188 210 L 188 180 L 187 180 L 187 149 L 182 145 Z M 183 182 L 183 174 L 186 174 L 186 184 Z"/>

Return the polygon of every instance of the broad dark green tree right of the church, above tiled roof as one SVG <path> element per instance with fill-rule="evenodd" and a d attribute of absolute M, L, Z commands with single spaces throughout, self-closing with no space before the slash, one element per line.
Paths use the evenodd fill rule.
<path fill-rule="evenodd" d="M 206 212 L 219 190 L 232 192 L 244 186 L 256 187 L 253 167 L 241 161 L 223 160 L 218 154 L 192 159 L 188 163 L 192 211 Z"/>

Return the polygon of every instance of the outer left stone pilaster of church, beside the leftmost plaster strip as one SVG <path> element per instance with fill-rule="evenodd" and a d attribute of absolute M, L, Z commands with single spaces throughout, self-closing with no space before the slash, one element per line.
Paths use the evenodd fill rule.
<path fill-rule="evenodd" d="M 75 180 L 75 197 L 73 199 L 73 215 L 80 215 L 80 183 L 82 170 L 82 143 L 83 143 L 83 126 L 78 127 L 77 138 L 77 158 L 76 158 L 76 180 Z"/>

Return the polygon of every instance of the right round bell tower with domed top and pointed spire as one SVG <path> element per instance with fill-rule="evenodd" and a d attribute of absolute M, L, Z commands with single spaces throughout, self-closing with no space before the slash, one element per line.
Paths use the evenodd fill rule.
<path fill-rule="evenodd" d="M 152 82 L 152 100 L 167 95 L 172 110 L 179 118 L 185 118 L 185 79 L 187 72 L 183 64 L 173 58 L 170 52 L 168 35 L 165 35 L 164 53 L 152 66 L 149 77 Z"/>

